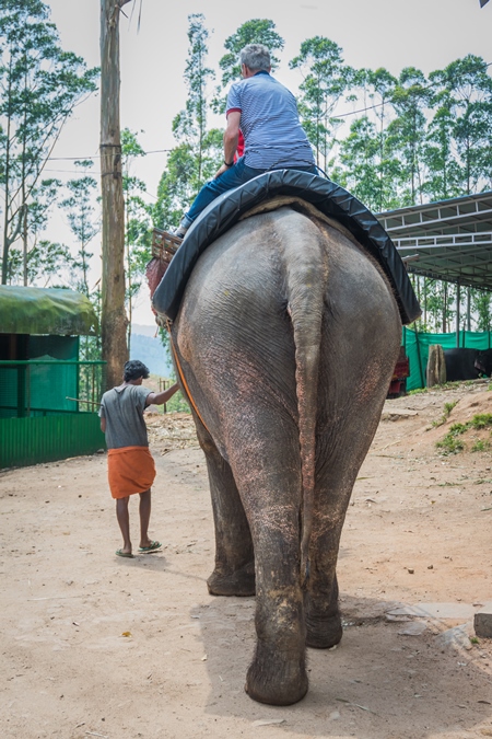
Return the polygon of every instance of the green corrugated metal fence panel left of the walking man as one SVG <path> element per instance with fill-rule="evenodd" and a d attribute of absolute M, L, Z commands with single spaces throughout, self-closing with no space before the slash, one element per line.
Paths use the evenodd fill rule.
<path fill-rule="evenodd" d="M 0 469 L 93 454 L 105 448 L 96 413 L 0 418 Z"/>

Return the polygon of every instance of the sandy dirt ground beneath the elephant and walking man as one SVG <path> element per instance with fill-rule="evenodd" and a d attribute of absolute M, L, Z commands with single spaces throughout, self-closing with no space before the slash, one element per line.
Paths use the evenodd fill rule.
<path fill-rule="evenodd" d="M 473 634 L 492 601 L 492 458 L 471 451 L 490 431 L 467 431 L 456 454 L 435 447 L 492 413 L 487 386 L 386 403 L 342 536 L 344 636 L 308 650 L 309 692 L 286 708 L 243 689 L 254 599 L 207 592 L 213 528 L 189 417 L 149 416 L 159 553 L 115 556 L 105 454 L 2 472 L 2 739 L 492 737 L 492 639 Z M 132 500 L 134 547 L 137 513 Z"/>

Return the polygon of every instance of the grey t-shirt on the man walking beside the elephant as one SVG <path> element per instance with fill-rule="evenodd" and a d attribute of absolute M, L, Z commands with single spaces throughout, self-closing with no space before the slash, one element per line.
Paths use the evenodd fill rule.
<path fill-rule="evenodd" d="M 143 385 L 125 385 L 104 393 L 99 416 L 106 418 L 108 449 L 149 446 L 143 411 L 151 392 Z"/>

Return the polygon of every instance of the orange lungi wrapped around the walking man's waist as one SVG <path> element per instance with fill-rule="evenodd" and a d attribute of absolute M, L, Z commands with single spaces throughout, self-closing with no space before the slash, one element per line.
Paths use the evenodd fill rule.
<path fill-rule="evenodd" d="M 155 480 L 155 464 L 149 447 L 108 449 L 107 478 L 114 498 L 148 490 Z"/>

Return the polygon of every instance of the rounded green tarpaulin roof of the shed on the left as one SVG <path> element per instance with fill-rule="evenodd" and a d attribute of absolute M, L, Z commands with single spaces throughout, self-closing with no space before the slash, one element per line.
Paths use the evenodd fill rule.
<path fill-rule="evenodd" d="M 0 286 L 0 334 L 97 333 L 97 316 L 85 296 L 62 288 Z"/>

